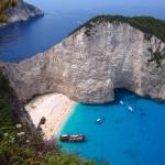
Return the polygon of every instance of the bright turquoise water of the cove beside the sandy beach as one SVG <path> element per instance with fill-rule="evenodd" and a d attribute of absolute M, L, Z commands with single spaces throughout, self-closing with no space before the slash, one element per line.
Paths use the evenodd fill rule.
<path fill-rule="evenodd" d="M 63 143 L 62 150 L 111 165 L 165 165 L 165 103 L 125 90 L 116 96 L 105 106 L 77 105 L 61 133 L 84 133 L 87 141 Z M 100 117 L 106 120 L 97 124 Z"/>

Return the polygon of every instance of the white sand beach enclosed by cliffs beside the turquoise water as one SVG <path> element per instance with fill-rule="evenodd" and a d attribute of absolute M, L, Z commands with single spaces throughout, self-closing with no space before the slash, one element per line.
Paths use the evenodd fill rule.
<path fill-rule="evenodd" d="M 54 139 L 63 124 L 74 110 L 75 102 L 62 94 L 50 94 L 41 96 L 25 105 L 35 127 L 45 117 L 46 122 L 42 125 L 45 140 Z"/>

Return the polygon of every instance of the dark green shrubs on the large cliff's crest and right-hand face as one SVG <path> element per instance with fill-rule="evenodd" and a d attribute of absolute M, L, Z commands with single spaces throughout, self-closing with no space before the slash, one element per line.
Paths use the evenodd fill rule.
<path fill-rule="evenodd" d="M 144 32 L 144 37 L 148 42 L 151 41 L 152 35 L 158 37 L 161 41 L 165 42 L 165 21 L 158 20 L 152 16 L 133 16 L 128 18 L 123 15 L 98 15 L 96 18 L 90 19 L 85 24 L 78 26 L 75 31 L 79 31 L 85 28 L 85 33 L 87 36 L 91 35 L 91 30 L 97 25 L 101 24 L 105 26 L 107 22 L 110 23 L 129 23 L 131 26 L 141 30 Z M 161 43 L 158 43 L 158 48 L 153 52 L 152 48 L 148 48 L 151 54 L 151 58 L 148 62 L 155 62 L 157 67 L 162 67 L 162 62 L 165 59 L 165 50 L 161 51 Z"/>

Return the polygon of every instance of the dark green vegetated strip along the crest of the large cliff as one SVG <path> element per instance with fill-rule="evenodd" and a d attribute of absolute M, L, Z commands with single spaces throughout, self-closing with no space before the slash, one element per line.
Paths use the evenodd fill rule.
<path fill-rule="evenodd" d="M 82 25 L 78 26 L 70 34 L 79 31 L 82 28 L 86 28 L 86 34 L 90 35 L 90 30 L 100 23 L 129 23 L 131 26 L 141 30 L 142 32 L 151 35 L 155 35 L 163 42 L 165 42 L 165 21 L 158 20 L 152 16 L 123 16 L 123 15 L 98 15 Z"/>

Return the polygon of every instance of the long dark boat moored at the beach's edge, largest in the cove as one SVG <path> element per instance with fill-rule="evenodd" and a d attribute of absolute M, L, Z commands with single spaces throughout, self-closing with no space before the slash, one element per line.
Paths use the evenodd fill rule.
<path fill-rule="evenodd" d="M 84 134 L 62 134 L 59 136 L 61 142 L 84 142 L 85 139 Z"/>

